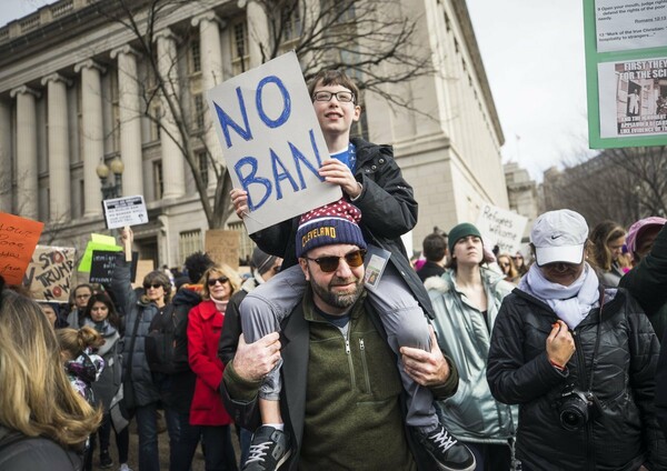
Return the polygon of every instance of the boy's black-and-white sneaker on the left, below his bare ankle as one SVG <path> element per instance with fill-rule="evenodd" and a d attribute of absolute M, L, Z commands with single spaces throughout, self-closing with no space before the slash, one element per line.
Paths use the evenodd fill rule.
<path fill-rule="evenodd" d="M 269 425 L 255 431 L 242 471 L 276 471 L 291 454 L 289 434 Z"/>

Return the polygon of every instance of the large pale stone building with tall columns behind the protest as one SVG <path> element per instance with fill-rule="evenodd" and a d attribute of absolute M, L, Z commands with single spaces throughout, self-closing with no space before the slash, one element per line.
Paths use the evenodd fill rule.
<path fill-rule="evenodd" d="M 142 194 L 149 210 L 150 223 L 135 228 L 140 257 L 177 267 L 202 248 L 207 220 L 178 143 L 141 117 L 151 76 L 137 38 L 99 14 L 104 1 L 60 0 L 0 28 L 0 211 L 44 221 L 41 243 L 81 249 L 104 231 L 98 167 L 120 159 L 122 193 Z M 415 187 L 418 248 L 434 226 L 475 221 L 484 202 L 507 208 L 504 136 L 465 1 L 400 1 L 419 19 L 418 43 L 438 73 L 387 84 L 388 93 L 410 97 L 412 110 L 368 93 L 362 132 L 394 144 Z M 249 31 L 262 22 L 252 0 L 181 3 L 160 22 L 157 56 L 177 67 L 159 67 L 179 77 L 183 86 L 172 92 L 198 120 L 208 112 L 205 90 L 261 63 Z M 219 149 L 215 139 L 211 132 L 207 144 Z M 243 231 L 236 216 L 227 226 Z M 242 240 L 245 255 L 251 244 Z"/>

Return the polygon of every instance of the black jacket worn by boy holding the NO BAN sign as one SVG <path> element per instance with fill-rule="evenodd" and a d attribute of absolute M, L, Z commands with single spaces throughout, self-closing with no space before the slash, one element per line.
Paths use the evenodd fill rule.
<path fill-rule="evenodd" d="M 391 252 L 389 259 L 406 280 L 422 309 L 432 319 L 432 307 L 424 283 L 408 261 L 400 237 L 417 224 L 418 206 L 412 187 L 404 180 L 389 146 L 377 146 L 362 139 L 352 139 L 357 148 L 355 178 L 364 190 L 350 201 L 361 210 L 364 239 L 367 243 Z M 267 253 L 282 257 L 282 268 L 297 264 L 296 234 L 299 218 L 279 222 L 250 237 Z"/>

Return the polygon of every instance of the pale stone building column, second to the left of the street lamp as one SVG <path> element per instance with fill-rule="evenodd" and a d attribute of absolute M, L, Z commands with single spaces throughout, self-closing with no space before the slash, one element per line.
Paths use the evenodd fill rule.
<path fill-rule="evenodd" d="M 47 86 L 48 141 L 49 141 L 49 208 L 51 221 L 69 221 L 70 161 L 69 128 L 67 117 L 67 87 L 71 82 L 52 73 L 42 79 Z"/>

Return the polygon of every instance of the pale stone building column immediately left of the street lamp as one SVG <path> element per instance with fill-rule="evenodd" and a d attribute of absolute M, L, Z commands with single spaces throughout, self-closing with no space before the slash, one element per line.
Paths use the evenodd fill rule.
<path fill-rule="evenodd" d="M 100 73 L 104 68 L 92 59 L 77 63 L 74 72 L 81 73 L 81 139 L 83 153 L 83 217 L 102 212 L 100 179 L 96 169 L 104 157 L 102 128 L 102 86 Z"/>

